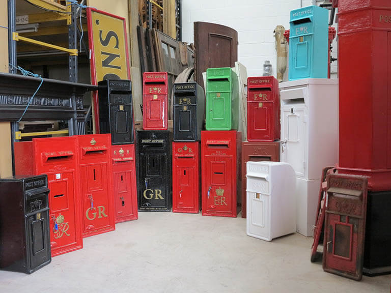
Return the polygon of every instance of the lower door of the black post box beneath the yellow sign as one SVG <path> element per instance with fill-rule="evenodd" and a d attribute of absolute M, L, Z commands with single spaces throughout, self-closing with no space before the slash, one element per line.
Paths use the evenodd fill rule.
<path fill-rule="evenodd" d="M 109 105 L 111 141 L 133 143 L 133 109 L 131 105 Z"/>

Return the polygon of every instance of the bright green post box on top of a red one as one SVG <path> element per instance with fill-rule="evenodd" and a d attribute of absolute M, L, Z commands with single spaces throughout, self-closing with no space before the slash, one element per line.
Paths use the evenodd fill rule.
<path fill-rule="evenodd" d="M 206 130 L 236 130 L 239 116 L 238 77 L 230 68 L 206 70 Z"/>

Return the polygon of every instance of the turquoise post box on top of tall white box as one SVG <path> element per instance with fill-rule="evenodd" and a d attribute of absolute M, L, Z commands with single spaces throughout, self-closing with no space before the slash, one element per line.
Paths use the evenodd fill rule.
<path fill-rule="evenodd" d="M 289 80 L 327 78 L 328 10 L 308 6 L 290 16 Z"/>

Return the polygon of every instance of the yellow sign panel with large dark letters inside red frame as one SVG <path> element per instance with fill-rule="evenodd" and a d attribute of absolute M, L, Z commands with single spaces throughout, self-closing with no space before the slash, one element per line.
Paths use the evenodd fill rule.
<path fill-rule="evenodd" d="M 128 79 L 124 19 L 91 10 L 96 81 Z M 91 32 L 90 32 L 91 34 Z"/>

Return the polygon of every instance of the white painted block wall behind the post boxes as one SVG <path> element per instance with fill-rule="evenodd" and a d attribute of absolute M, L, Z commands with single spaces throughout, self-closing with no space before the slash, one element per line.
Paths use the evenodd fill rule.
<path fill-rule="evenodd" d="M 289 12 L 313 3 L 315 0 L 182 0 L 182 41 L 193 42 L 194 21 L 230 26 L 238 32 L 238 61 L 247 68 L 247 76 L 261 76 L 266 60 L 276 76 L 274 28 L 282 24 L 289 30 Z M 333 47 L 336 57 L 337 45 Z M 336 72 L 337 62 L 333 65 Z"/>

